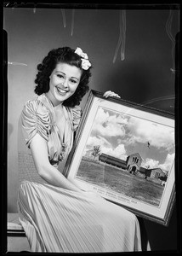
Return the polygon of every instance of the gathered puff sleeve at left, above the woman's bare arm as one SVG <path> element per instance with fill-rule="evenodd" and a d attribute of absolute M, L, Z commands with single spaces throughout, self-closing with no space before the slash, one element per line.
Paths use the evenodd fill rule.
<path fill-rule="evenodd" d="M 20 122 L 28 148 L 30 148 L 31 140 L 37 133 L 48 141 L 50 118 L 48 108 L 43 105 L 43 102 L 38 100 L 26 102 L 21 113 Z"/>

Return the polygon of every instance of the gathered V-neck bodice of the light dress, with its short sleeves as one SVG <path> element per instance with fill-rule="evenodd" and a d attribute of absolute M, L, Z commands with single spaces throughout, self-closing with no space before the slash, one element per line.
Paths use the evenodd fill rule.
<path fill-rule="evenodd" d="M 19 120 L 19 154 L 22 151 L 31 154 L 31 140 L 38 133 L 48 143 L 48 160 L 52 165 L 57 167 L 67 157 L 81 118 L 81 108 L 62 108 L 65 122 L 60 127 L 56 123 L 54 106 L 45 94 L 26 102 Z"/>

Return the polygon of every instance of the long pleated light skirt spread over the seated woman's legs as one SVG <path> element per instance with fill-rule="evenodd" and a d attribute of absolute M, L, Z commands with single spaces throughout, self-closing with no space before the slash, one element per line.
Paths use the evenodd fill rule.
<path fill-rule="evenodd" d="M 99 195 L 23 181 L 18 211 L 32 252 L 141 251 L 136 216 Z"/>

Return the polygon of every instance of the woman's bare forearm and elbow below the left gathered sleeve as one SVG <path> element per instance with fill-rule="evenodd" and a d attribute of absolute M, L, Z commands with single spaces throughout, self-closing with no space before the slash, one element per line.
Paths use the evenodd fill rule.
<path fill-rule="evenodd" d="M 47 142 L 38 133 L 32 138 L 30 148 L 37 172 L 47 183 L 63 189 L 82 192 L 49 163 Z"/>

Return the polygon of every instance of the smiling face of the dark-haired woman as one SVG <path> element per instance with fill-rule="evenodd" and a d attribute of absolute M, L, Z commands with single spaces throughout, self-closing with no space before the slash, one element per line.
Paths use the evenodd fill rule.
<path fill-rule="evenodd" d="M 64 102 L 77 90 L 82 71 L 66 63 L 58 63 L 49 79 L 48 97 L 54 106 Z"/>

